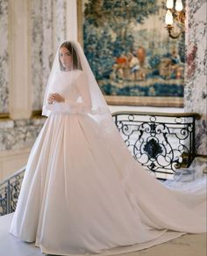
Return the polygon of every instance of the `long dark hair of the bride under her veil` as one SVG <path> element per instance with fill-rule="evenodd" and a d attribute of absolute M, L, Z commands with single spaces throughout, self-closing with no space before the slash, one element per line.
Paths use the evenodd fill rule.
<path fill-rule="evenodd" d="M 79 57 L 76 53 L 76 49 L 75 49 L 73 43 L 70 42 L 70 41 L 64 41 L 61 44 L 60 49 L 61 48 L 67 48 L 68 51 L 70 52 L 70 54 L 72 55 L 72 58 L 73 58 L 72 62 L 73 62 L 74 69 L 81 69 L 82 70 L 82 65 L 81 65 L 80 59 L 79 59 Z M 60 55 L 59 55 L 59 62 L 60 62 L 61 70 L 65 70 L 65 68 L 62 66 Z"/>

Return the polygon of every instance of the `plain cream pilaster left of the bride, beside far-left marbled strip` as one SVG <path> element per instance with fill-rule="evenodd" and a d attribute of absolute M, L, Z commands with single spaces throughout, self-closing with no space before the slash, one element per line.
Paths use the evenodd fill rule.
<path fill-rule="evenodd" d="M 11 119 L 30 118 L 30 1 L 9 0 L 9 91 Z"/>

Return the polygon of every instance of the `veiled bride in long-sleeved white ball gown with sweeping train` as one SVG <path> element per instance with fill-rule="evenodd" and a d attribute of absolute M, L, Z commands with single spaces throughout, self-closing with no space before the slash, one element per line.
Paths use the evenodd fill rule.
<path fill-rule="evenodd" d="M 111 255 L 206 231 L 205 189 L 169 189 L 133 159 L 77 42 L 57 51 L 43 115 L 11 234 L 43 253 Z"/>

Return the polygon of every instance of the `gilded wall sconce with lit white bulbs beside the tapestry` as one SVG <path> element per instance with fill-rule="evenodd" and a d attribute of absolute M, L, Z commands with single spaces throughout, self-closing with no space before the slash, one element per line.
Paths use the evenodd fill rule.
<path fill-rule="evenodd" d="M 168 30 L 168 35 L 172 39 L 176 39 L 185 31 L 185 11 L 183 11 L 182 0 L 167 0 L 166 7 L 168 11 L 165 16 L 165 23 L 167 24 L 166 28 Z M 173 26 L 174 21 L 176 21 L 180 26 L 181 31 L 179 33 L 173 33 L 175 28 Z"/>

